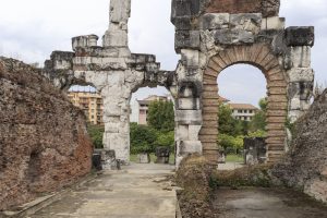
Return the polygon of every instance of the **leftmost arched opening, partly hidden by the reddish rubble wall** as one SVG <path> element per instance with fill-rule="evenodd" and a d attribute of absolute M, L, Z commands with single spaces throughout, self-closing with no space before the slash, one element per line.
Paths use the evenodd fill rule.
<path fill-rule="evenodd" d="M 104 148 L 104 100 L 100 93 L 92 85 L 74 85 L 68 90 L 68 97 L 75 107 L 83 110 L 94 147 Z"/>

